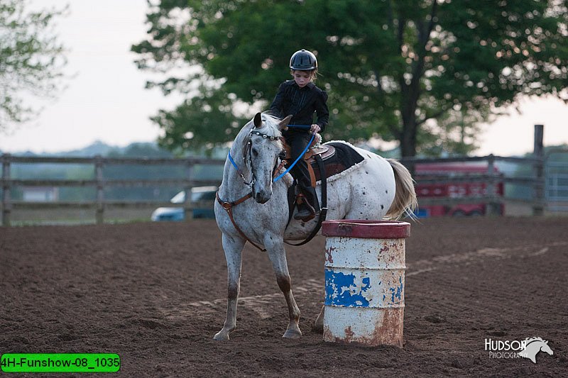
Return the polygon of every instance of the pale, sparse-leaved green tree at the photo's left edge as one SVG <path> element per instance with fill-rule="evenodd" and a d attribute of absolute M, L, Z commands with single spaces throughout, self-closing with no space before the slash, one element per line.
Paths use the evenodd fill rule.
<path fill-rule="evenodd" d="M 50 98 L 61 88 L 64 48 L 53 21 L 65 10 L 26 12 L 26 1 L 0 0 L 0 130 L 36 116 L 25 96 Z"/>

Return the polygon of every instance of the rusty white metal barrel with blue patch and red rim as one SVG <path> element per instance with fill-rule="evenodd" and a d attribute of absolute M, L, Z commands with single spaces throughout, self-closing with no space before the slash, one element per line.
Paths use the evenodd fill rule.
<path fill-rule="evenodd" d="M 403 347 L 410 223 L 325 221 L 324 341 Z"/>

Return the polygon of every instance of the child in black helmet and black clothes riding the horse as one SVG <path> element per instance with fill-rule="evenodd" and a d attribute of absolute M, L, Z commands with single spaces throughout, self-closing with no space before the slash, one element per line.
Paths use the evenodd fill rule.
<path fill-rule="evenodd" d="M 324 131 L 329 121 L 329 111 L 326 104 L 327 93 L 313 83 L 317 74 L 315 55 L 307 50 L 294 52 L 290 58 L 290 70 L 293 79 L 280 84 L 270 111 L 280 118 L 290 114 L 293 116 L 290 127 L 283 131 L 283 135 L 286 143 L 290 145 L 294 162 L 310 142 L 311 134 Z M 315 123 L 314 113 L 317 116 Z M 310 128 L 294 128 L 294 125 L 310 125 Z M 298 160 L 290 173 L 297 181 L 300 195 L 304 197 L 294 218 L 309 221 L 320 211 L 320 205 L 310 181 L 307 163 L 303 159 Z"/>

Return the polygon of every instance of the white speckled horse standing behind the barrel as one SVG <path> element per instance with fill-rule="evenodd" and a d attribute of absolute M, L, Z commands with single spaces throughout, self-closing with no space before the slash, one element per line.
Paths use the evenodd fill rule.
<path fill-rule="evenodd" d="M 281 130 L 290 121 L 257 113 L 236 136 L 225 162 L 223 181 L 215 202 L 215 218 L 222 231 L 228 279 L 226 320 L 214 339 L 229 340 L 236 328 L 236 304 L 239 299 L 242 250 L 248 240 L 263 245 L 282 290 L 290 321 L 284 338 L 300 338 L 300 310 L 292 294 L 286 262 L 284 240 L 303 240 L 317 223 L 292 220 L 288 223 L 288 187 L 290 174 L 273 182 L 283 170 Z M 364 157 L 361 167 L 329 182 L 327 188 L 328 219 L 398 219 L 417 206 L 413 179 L 408 170 L 395 160 L 355 148 Z M 320 184 L 316 188 L 321 202 Z M 323 321 L 323 308 L 316 323 Z"/>

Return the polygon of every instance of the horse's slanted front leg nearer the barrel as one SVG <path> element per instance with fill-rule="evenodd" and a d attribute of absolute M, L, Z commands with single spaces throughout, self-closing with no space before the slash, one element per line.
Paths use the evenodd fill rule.
<path fill-rule="evenodd" d="M 290 321 L 283 338 L 300 338 L 302 331 L 298 326 L 300 322 L 300 308 L 297 307 L 294 295 L 292 294 L 292 282 L 290 273 L 288 272 L 288 262 L 286 261 L 286 251 L 282 238 L 267 236 L 265 238 L 265 247 L 268 250 L 268 257 L 272 262 L 274 273 L 276 274 L 276 282 L 278 287 L 284 293 L 286 304 L 288 304 L 288 314 Z"/>

